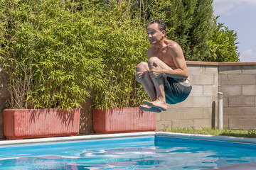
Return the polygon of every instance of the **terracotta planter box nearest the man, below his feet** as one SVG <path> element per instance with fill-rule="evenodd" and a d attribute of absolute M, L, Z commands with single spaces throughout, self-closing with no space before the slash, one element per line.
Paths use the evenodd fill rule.
<path fill-rule="evenodd" d="M 139 108 L 92 108 L 96 134 L 155 131 L 156 118 L 157 113 L 144 112 Z"/>

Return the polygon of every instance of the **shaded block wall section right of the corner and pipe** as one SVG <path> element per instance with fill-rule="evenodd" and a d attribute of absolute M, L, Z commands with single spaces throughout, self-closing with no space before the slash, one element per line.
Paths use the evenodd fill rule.
<path fill-rule="evenodd" d="M 256 64 L 219 65 L 219 91 L 223 92 L 223 125 L 230 129 L 256 129 Z"/>

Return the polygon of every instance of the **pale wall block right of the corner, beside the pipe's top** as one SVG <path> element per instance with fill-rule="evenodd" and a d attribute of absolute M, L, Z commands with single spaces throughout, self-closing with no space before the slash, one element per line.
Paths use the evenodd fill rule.
<path fill-rule="evenodd" d="M 224 96 L 242 96 L 241 85 L 219 86 L 219 91 L 223 92 Z"/>

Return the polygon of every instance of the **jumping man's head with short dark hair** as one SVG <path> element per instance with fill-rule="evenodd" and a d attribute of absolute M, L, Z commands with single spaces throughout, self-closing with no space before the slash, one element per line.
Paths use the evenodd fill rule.
<path fill-rule="evenodd" d="M 151 45 L 159 44 L 166 36 L 166 25 L 159 19 L 153 20 L 149 22 L 146 33 Z"/>

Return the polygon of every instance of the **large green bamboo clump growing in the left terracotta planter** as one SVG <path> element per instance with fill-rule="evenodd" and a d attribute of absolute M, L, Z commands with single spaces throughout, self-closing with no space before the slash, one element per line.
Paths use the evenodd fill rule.
<path fill-rule="evenodd" d="M 104 84 L 104 28 L 76 12 L 78 3 L 63 2 L 1 1 L 1 67 L 11 108 L 78 108 Z"/>

